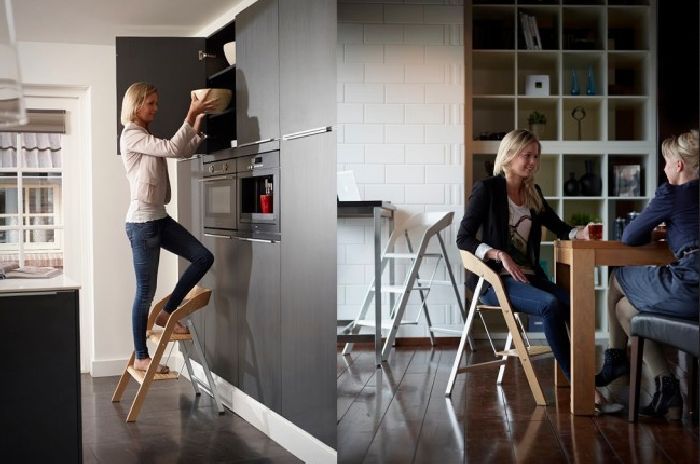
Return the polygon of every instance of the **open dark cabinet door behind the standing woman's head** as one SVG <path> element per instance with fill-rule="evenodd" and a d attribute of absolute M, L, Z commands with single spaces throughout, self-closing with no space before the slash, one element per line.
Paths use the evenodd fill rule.
<path fill-rule="evenodd" d="M 134 82 L 158 89 L 158 116 L 149 130 L 170 138 L 182 125 L 190 105 L 190 90 L 206 87 L 203 37 L 117 37 L 117 153 L 124 92 Z"/>

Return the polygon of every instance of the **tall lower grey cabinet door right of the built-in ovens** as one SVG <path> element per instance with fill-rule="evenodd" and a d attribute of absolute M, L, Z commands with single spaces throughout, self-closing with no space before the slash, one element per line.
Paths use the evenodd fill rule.
<path fill-rule="evenodd" d="M 282 141 L 282 414 L 335 446 L 336 137 Z M 309 166 L 313 166 L 310 169 Z"/>

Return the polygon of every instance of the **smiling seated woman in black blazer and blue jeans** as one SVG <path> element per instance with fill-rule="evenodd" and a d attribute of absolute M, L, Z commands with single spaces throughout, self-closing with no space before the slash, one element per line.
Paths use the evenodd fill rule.
<path fill-rule="evenodd" d="M 494 268 L 515 311 L 542 317 L 544 334 L 562 372 L 570 378 L 569 294 L 551 282 L 540 266 L 541 227 L 562 240 L 588 239 L 588 227 L 572 227 L 550 208 L 534 182 L 541 145 L 529 131 L 503 138 L 493 177 L 474 185 L 457 233 L 457 247 Z M 477 235 L 481 229 L 481 236 Z M 472 277 L 471 287 L 476 285 Z M 498 306 L 491 286 L 481 301 Z"/>

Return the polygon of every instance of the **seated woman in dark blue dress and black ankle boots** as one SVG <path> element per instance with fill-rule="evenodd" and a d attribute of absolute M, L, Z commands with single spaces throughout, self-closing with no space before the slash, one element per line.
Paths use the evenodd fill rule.
<path fill-rule="evenodd" d="M 698 131 L 667 138 L 661 144 L 667 183 L 656 189 L 649 205 L 625 228 L 622 241 L 639 246 L 656 238 L 655 228 L 666 224 L 666 239 L 677 261 L 667 266 L 626 266 L 610 275 L 608 326 L 610 347 L 596 375 L 596 387 L 609 385 L 629 373 L 627 337 L 630 320 L 639 314 L 698 319 Z M 663 351 L 644 341 L 644 364 L 654 379 L 654 396 L 639 413 L 680 419 L 683 397 Z"/>

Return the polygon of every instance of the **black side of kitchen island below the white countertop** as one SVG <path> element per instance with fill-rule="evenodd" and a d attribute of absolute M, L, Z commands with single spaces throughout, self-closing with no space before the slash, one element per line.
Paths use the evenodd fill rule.
<path fill-rule="evenodd" d="M 82 462 L 78 291 L 0 293 L 4 462 Z"/>

